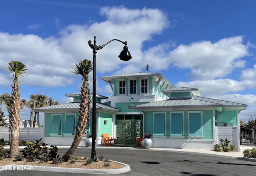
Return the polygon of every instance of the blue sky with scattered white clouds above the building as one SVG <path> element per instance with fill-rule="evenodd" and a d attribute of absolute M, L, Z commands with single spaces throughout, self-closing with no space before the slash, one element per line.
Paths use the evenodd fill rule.
<path fill-rule="evenodd" d="M 175 86 L 247 104 L 240 113 L 247 121 L 256 114 L 255 6 L 252 0 L 0 0 L 0 94 L 11 93 L 5 68 L 18 60 L 29 72 L 22 98 L 45 94 L 70 102 L 64 94 L 79 92 L 81 83 L 71 65 L 92 60 L 88 40 L 96 36 L 97 45 L 127 41 L 132 55 L 120 61 L 123 44 L 111 42 L 97 53 L 97 78 L 146 72 L 149 64 Z M 100 79 L 97 93 L 112 95 Z"/>

